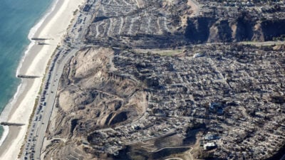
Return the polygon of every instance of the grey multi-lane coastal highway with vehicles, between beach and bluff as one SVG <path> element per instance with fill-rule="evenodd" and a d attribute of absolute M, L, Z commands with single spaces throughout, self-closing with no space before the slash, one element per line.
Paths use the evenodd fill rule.
<path fill-rule="evenodd" d="M 48 67 L 48 73 L 43 80 L 43 91 L 39 95 L 31 127 L 27 131 L 28 137 L 21 159 L 43 159 L 43 142 L 46 138 L 46 129 L 48 128 L 55 105 L 56 92 L 64 65 L 84 46 L 82 44 L 83 38 L 88 26 L 92 23 L 92 15 L 82 11 L 79 11 L 75 17 L 77 21 L 71 23 L 73 27 L 68 31 L 68 36 L 71 38 L 69 40 L 71 46 L 68 46 L 68 42 L 66 42 L 60 48 L 56 49 L 56 54 L 53 55 L 52 62 Z M 85 21 L 82 21 L 82 19 L 85 19 Z"/>

